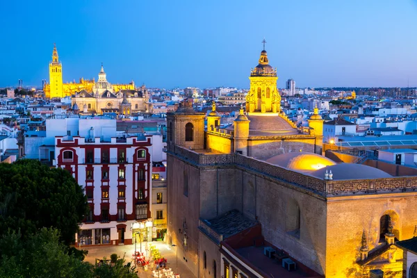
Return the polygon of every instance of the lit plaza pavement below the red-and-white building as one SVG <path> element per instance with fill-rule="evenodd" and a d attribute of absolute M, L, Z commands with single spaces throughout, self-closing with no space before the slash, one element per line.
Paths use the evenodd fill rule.
<path fill-rule="evenodd" d="M 142 243 L 142 252 L 145 251 L 145 245 L 147 243 Z M 161 258 L 167 259 L 167 266 L 166 268 L 172 268 L 174 273 L 179 273 L 181 278 L 195 278 L 195 275 L 187 268 L 186 264 L 183 263 L 181 258 L 178 260 L 178 270 L 177 270 L 177 256 L 176 256 L 176 247 L 170 247 L 163 241 L 154 241 L 152 244 L 161 252 Z M 88 254 L 85 256 L 84 261 L 88 261 L 89 263 L 95 263 L 95 259 L 110 259 L 111 254 L 117 254 L 120 257 L 124 256 L 126 263 L 132 262 L 133 263 L 133 253 L 135 252 L 135 245 L 95 245 L 90 247 L 82 247 L 83 250 L 87 250 Z M 136 244 L 136 251 L 140 252 L 140 244 Z M 152 273 L 153 268 L 148 268 L 147 271 L 143 270 L 142 267 L 136 267 L 138 270 L 138 277 L 140 278 L 154 278 Z M 165 278 L 165 276 L 161 275 L 161 278 Z"/>

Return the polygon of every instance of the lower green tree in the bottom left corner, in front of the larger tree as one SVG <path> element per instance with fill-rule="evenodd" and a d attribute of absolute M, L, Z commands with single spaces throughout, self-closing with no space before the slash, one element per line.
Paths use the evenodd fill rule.
<path fill-rule="evenodd" d="M 92 277 L 93 266 L 69 254 L 57 229 L 23 238 L 9 231 L 0 239 L 0 277 Z"/>

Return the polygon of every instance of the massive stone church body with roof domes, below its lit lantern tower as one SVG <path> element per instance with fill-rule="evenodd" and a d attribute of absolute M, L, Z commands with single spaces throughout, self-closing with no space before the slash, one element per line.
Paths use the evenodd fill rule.
<path fill-rule="evenodd" d="M 233 261 L 225 262 L 220 252 L 222 234 L 204 223 L 237 210 L 261 225 L 265 243 L 319 275 L 370 277 L 382 270 L 402 277 L 402 250 L 394 243 L 416 236 L 417 177 L 326 162 L 317 143 L 322 138 L 317 111 L 309 130 L 285 125 L 272 136 L 260 118 L 252 117 L 251 128 L 250 113 L 240 111 L 229 131 L 217 129 L 215 107 L 206 129 L 204 114 L 190 102 L 168 114 L 167 240 L 177 245 L 178 258 L 196 277 L 224 276 L 225 263 Z M 284 115 L 271 117 L 286 122 Z M 269 162 L 268 152 L 259 151 L 265 145 L 252 144 L 256 136 L 279 144 L 279 151 L 270 147 Z"/>

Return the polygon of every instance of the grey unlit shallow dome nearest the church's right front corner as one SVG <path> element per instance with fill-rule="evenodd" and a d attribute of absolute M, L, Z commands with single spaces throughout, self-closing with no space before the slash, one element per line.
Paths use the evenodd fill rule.
<path fill-rule="evenodd" d="M 384 179 L 391 178 L 391 174 L 379 170 L 374 167 L 363 164 L 354 163 L 339 163 L 336 165 L 329 165 L 320 170 L 312 172 L 313 176 L 324 178 L 325 173 L 332 171 L 333 179 Z"/>

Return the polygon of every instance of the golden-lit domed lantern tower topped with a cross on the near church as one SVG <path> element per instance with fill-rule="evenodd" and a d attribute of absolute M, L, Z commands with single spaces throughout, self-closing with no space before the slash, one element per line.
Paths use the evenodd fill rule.
<path fill-rule="evenodd" d="M 246 96 L 246 111 L 261 113 L 279 113 L 281 96 L 277 90 L 277 69 L 269 65 L 268 54 L 263 51 L 257 65 L 250 73 L 250 91 Z"/>

